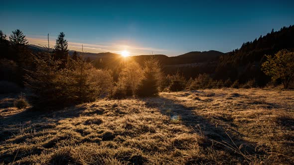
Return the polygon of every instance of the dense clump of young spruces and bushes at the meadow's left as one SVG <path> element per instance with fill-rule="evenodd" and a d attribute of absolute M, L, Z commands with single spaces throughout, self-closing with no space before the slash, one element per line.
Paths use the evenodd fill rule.
<path fill-rule="evenodd" d="M 111 86 L 110 74 L 82 59 L 69 59 L 67 68 L 61 68 L 61 60 L 51 55 L 35 56 L 36 70 L 28 71 L 25 77 L 31 102 L 37 107 L 65 106 L 95 101 L 106 93 Z"/>

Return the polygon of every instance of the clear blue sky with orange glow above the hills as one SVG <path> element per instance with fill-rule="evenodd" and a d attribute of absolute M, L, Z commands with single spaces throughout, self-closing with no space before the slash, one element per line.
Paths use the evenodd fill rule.
<path fill-rule="evenodd" d="M 62 31 L 70 49 L 132 55 L 228 52 L 294 24 L 294 0 L 3 0 L 0 8 L 0 29 L 20 29 L 32 44 L 49 33 L 53 46 Z"/>

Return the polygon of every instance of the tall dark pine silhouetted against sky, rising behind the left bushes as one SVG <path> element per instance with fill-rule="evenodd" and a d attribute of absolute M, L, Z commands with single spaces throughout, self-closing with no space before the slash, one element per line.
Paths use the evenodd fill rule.
<path fill-rule="evenodd" d="M 61 32 L 56 39 L 56 45 L 54 47 L 55 59 L 63 60 L 62 66 L 65 67 L 68 59 L 68 48 L 67 48 L 67 41 L 64 39 L 65 34 Z"/>

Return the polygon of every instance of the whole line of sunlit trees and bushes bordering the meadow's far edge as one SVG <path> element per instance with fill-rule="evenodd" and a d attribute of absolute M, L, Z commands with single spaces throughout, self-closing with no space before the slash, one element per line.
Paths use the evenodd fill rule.
<path fill-rule="evenodd" d="M 48 45 L 44 46 L 47 51 L 32 53 L 20 30 L 12 31 L 8 40 L 0 31 L 0 47 L 1 64 L 7 66 L 1 66 L 2 80 L 25 86 L 27 97 L 35 106 L 65 106 L 101 97 L 156 96 L 160 91 L 258 87 L 255 79 L 239 83 L 231 79 L 214 80 L 208 74 L 188 80 L 179 71 L 164 75 L 160 62 L 153 56 L 144 61 L 143 67 L 125 59 L 115 68 L 97 69 L 84 52 L 69 56 L 63 32 L 58 35 L 53 51 Z M 294 78 L 294 53 L 282 50 L 266 57 L 267 61 L 262 64 L 264 73 L 274 81 L 280 80 L 287 88 Z M 16 76 L 11 76 L 13 74 Z"/>

